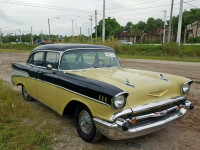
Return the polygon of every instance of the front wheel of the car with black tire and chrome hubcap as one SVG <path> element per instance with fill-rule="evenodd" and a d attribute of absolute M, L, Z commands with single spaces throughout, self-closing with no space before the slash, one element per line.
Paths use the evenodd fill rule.
<path fill-rule="evenodd" d="M 76 130 L 79 136 L 87 142 L 97 142 L 102 138 L 102 134 L 97 131 L 93 117 L 88 108 L 80 106 L 75 114 Z"/>

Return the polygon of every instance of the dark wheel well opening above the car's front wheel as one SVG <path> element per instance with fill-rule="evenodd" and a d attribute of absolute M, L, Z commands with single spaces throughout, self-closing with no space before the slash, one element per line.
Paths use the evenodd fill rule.
<path fill-rule="evenodd" d="M 87 107 L 85 104 L 76 100 L 69 102 L 63 111 L 63 115 L 74 115 L 76 108 L 80 105 Z"/>

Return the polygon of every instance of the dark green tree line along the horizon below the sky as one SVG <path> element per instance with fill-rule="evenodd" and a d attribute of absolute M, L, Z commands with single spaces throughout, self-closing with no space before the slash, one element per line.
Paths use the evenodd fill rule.
<path fill-rule="evenodd" d="M 184 37 L 184 31 L 188 24 L 191 24 L 195 21 L 200 21 L 200 9 L 190 9 L 189 11 L 184 10 L 183 12 L 183 24 L 182 24 L 182 38 Z M 177 34 L 178 29 L 178 15 L 173 17 L 172 21 L 172 32 L 174 35 Z M 102 37 L 102 24 L 103 21 L 100 20 L 97 25 L 97 35 L 98 38 Z M 127 22 L 125 26 L 121 26 L 119 22 L 115 18 L 106 18 L 106 28 L 105 28 L 105 37 L 106 39 L 109 37 L 115 37 L 119 38 L 123 31 L 128 32 L 129 37 L 142 35 L 142 33 L 146 34 L 153 34 L 157 29 L 163 28 L 164 22 L 161 18 L 149 18 L 146 22 L 140 21 L 137 24 L 133 24 L 132 22 Z M 166 28 L 169 26 L 169 20 L 167 21 Z M 95 27 L 94 27 L 95 28 Z M 95 33 L 93 33 L 93 37 L 95 37 Z M 36 41 L 37 39 L 43 38 L 43 40 L 54 40 L 56 42 L 73 42 L 76 40 L 81 40 L 83 42 L 89 41 L 89 37 L 87 36 L 60 36 L 60 35 L 51 35 L 51 38 L 49 38 L 49 35 L 32 35 L 33 41 Z M 4 35 L 2 36 L 3 43 L 11 43 L 11 42 L 19 42 L 19 35 Z M 21 36 L 21 39 L 23 42 L 30 43 L 31 42 L 31 34 L 23 34 Z"/>

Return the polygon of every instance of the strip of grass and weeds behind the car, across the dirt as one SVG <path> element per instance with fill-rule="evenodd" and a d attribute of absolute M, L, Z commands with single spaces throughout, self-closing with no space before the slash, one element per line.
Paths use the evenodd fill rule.
<path fill-rule="evenodd" d="M 80 38 L 68 39 L 67 43 L 88 43 Z M 63 41 L 64 43 L 64 41 Z M 93 44 L 103 45 L 100 39 L 94 40 Z M 117 39 L 111 37 L 105 41 L 106 46 L 116 50 L 119 57 L 133 59 L 156 59 L 200 62 L 200 45 L 181 45 L 170 44 L 120 44 Z M 38 45 L 26 44 L 1 44 L 0 52 L 30 53 Z"/>

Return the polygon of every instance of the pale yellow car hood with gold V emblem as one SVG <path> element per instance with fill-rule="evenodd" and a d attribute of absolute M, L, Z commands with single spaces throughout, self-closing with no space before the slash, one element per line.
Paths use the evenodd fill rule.
<path fill-rule="evenodd" d="M 173 75 L 163 74 L 160 78 L 158 72 L 126 69 L 105 68 L 84 71 L 74 71 L 73 74 L 98 80 L 116 86 L 129 93 L 127 105 L 136 107 L 180 96 L 180 87 L 173 81 Z M 128 81 L 133 86 L 125 84 Z"/>

